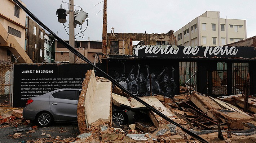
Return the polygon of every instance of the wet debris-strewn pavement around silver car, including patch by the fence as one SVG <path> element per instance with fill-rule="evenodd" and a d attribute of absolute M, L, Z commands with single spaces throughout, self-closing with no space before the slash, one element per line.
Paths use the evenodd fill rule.
<path fill-rule="evenodd" d="M 0 115 L 3 118 L 10 116 L 13 110 L 22 108 L 0 107 Z M 16 118 L 0 125 L 1 143 L 62 143 L 72 141 L 78 134 L 78 124 L 74 123 L 54 123 L 50 127 L 38 127 L 33 121 L 28 123 L 25 119 Z"/>

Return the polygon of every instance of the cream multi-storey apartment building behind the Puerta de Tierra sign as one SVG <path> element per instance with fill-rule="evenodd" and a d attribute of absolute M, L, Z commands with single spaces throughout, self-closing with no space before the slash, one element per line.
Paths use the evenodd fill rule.
<path fill-rule="evenodd" d="M 173 33 L 178 46 L 222 46 L 246 39 L 246 20 L 220 18 L 206 11 Z"/>

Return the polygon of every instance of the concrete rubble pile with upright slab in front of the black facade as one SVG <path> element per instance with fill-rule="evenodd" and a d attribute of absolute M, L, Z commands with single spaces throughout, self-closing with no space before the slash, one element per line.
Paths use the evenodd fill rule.
<path fill-rule="evenodd" d="M 255 114 L 248 115 L 219 99 L 195 91 L 190 95 L 175 95 L 172 99 L 161 95 L 140 99 L 208 142 L 246 140 L 255 143 L 256 121 L 251 116 Z M 137 119 L 134 124 L 116 125 L 112 120 L 112 106 L 143 110 L 149 120 Z M 77 113 L 80 135 L 72 143 L 199 142 L 176 125 L 147 110 L 122 90 L 117 87 L 112 89 L 109 80 L 95 77 L 92 70 L 86 73 Z M 220 134 L 223 140 L 218 139 Z"/>

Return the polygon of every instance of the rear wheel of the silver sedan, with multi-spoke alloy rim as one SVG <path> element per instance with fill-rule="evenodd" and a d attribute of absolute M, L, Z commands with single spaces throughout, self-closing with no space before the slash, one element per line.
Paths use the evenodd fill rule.
<path fill-rule="evenodd" d="M 48 127 L 53 123 L 53 116 L 49 112 L 41 112 L 36 117 L 36 123 L 41 127 Z"/>

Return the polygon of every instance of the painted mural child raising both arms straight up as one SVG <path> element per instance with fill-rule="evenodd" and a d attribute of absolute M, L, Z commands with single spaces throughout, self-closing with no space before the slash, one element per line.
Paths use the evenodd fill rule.
<path fill-rule="evenodd" d="M 138 73 L 140 73 L 140 66 L 141 65 L 138 64 Z M 147 93 L 147 83 L 146 83 L 146 81 L 149 79 L 149 66 L 145 65 L 145 67 L 147 68 L 147 78 L 145 78 L 143 73 L 140 73 L 139 81 L 137 82 L 139 97 L 146 96 L 146 93 Z"/>

